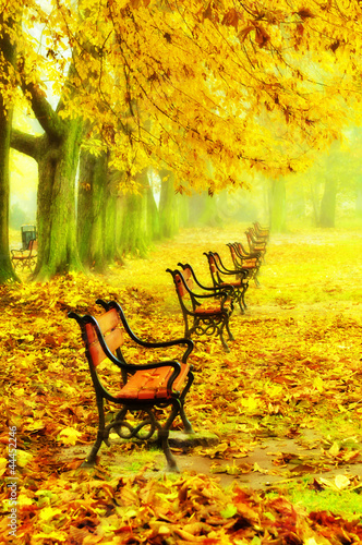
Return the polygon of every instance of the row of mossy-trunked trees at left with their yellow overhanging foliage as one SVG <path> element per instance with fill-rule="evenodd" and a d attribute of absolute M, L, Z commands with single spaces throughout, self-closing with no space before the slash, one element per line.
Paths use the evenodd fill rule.
<path fill-rule="evenodd" d="M 171 203 L 305 170 L 360 108 L 362 12 L 341 3 L 2 0 L 0 281 L 10 147 L 38 164 L 39 279 L 113 259 L 135 216 L 157 231 L 148 169 Z M 19 102 L 41 134 L 12 126 Z"/>

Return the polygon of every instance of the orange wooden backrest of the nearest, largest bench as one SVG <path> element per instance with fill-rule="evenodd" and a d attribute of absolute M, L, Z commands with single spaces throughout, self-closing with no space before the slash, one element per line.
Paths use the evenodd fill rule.
<path fill-rule="evenodd" d="M 116 308 L 111 308 L 101 316 L 98 316 L 96 320 L 99 325 L 99 329 L 105 338 L 107 347 L 110 352 L 114 353 L 116 350 L 123 344 L 123 331 L 119 327 L 121 320 Z M 99 365 L 99 363 L 101 363 L 107 355 L 101 348 L 96 327 L 93 324 L 85 324 L 85 337 L 89 358 L 94 367 L 97 367 L 97 365 Z"/>

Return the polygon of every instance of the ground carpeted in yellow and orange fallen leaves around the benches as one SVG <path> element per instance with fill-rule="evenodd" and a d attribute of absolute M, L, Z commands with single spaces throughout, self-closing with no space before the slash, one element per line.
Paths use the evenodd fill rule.
<path fill-rule="evenodd" d="M 203 252 L 244 240 L 245 226 L 185 230 L 155 247 L 146 261 L 129 259 L 109 275 L 74 275 L 49 283 L 1 287 L 0 543 L 24 544 L 299 544 L 362 541 L 361 481 L 350 468 L 362 448 L 362 234 L 359 231 L 295 232 L 272 238 L 262 288 L 251 286 L 249 310 L 231 318 L 236 337 L 225 353 L 217 339 L 197 339 L 190 361 L 195 383 L 186 410 L 196 432 L 219 443 L 188 456 L 213 460 L 234 475 L 263 471 L 244 457 L 265 440 L 318 437 L 318 456 L 293 460 L 289 476 L 314 468 L 338 469 L 312 481 L 311 494 L 328 487 L 355 502 L 355 516 L 293 502 L 288 491 L 272 494 L 236 481 L 225 489 L 217 476 L 181 473 L 149 477 L 152 458 L 133 475 L 109 471 L 113 447 L 101 451 L 95 472 L 76 456 L 96 433 L 96 410 L 80 331 L 70 310 L 99 312 L 97 298 L 117 299 L 133 330 L 145 339 L 183 335 L 171 276 L 166 268 L 189 262 L 209 283 Z M 169 352 L 168 352 L 169 354 Z M 152 354 L 128 347 L 129 360 Z M 162 355 L 162 354 L 158 354 Z M 176 423 L 179 426 L 179 422 Z M 16 438 L 16 468 L 11 474 Z M 74 456 L 63 456 L 69 450 Z M 138 445 L 117 445 L 130 460 Z M 176 457 L 181 452 L 176 451 Z M 298 457 L 294 457 L 298 458 Z M 276 474 L 290 463 L 276 456 Z M 228 468 L 225 470 L 225 468 Z M 231 470 L 230 470 L 231 468 Z M 297 469 L 295 469 L 297 468 Z M 147 470 L 147 471 L 146 471 Z M 275 488 L 274 488 L 275 491 Z M 15 504 L 11 502 L 15 499 Z M 13 509 L 13 511 L 12 511 Z M 9 534 L 16 517 L 16 536 Z M 2 541 L 1 541 L 2 540 Z"/>

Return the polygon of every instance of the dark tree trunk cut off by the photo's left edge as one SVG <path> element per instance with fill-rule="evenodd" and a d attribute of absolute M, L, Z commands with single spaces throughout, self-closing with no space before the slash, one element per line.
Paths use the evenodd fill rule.
<path fill-rule="evenodd" d="M 8 78 L 10 77 L 7 63 L 14 63 L 15 47 L 4 29 L 1 13 L 0 28 L 3 29 L 2 36 L 0 35 L 0 56 L 3 56 L 5 61 L 0 72 L 0 87 L 7 87 L 7 85 L 9 85 Z M 16 279 L 16 275 L 11 265 L 9 251 L 9 152 L 11 121 L 12 110 L 4 102 L 2 94 L 0 93 L 0 283 Z"/>

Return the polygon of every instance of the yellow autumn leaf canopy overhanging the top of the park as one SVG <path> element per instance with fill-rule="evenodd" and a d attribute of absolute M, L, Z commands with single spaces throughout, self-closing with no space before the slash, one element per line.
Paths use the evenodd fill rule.
<path fill-rule="evenodd" d="M 92 121 L 86 145 L 110 148 L 130 178 L 168 168 L 181 189 L 213 191 L 238 184 L 245 169 L 304 170 L 360 109 L 358 2 L 35 5 L 23 21 L 45 25 L 41 48 L 25 33 L 21 70 L 47 73 L 68 100 L 62 114 Z"/>

